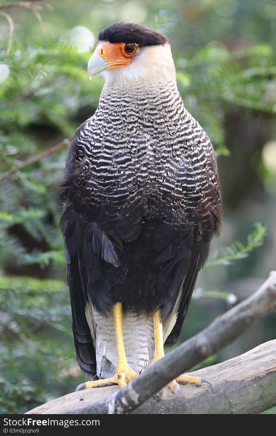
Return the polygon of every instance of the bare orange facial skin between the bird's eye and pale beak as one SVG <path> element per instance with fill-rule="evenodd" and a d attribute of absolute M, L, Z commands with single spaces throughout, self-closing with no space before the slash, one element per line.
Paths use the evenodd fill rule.
<path fill-rule="evenodd" d="M 133 53 L 128 54 L 125 51 L 127 44 L 124 42 L 110 43 L 110 42 L 100 42 L 95 51 L 103 58 L 109 65 L 108 69 L 120 68 L 123 65 L 131 64 L 134 54 L 137 53 L 139 47 L 137 44 L 132 44 L 136 46 Z"/>

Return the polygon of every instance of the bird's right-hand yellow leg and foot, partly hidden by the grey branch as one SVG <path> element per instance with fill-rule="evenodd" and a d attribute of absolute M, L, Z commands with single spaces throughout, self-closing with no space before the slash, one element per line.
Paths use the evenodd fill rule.
<path fill-rule="evenodd" d="M 164 341 L 163 341 L 163 326 L 161 323 L 160 310 L 153 313 L 153 327 L 154 327 L 154 360 L 153 363 L 157 362 L 159 359 L 164 357 Z M 201 386 L 202 381 L 206 381 L 211 384 L 208 380 L 202 379 L 200 377 L 190 377 L 189 375 L 182 374 L 175 380 L 170 381 L 167 385 L 168 388 L 176 394 L 179 389 L 179 384 L 186 385 L 190 383 L 192 385 Z M 211 385 L 212 386 L 212 385 Z"/>

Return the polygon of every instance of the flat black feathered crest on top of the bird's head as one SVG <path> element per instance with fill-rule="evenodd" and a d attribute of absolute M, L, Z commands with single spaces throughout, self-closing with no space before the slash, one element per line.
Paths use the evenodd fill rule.
<path fill-rule="evenodd" d="M 170 42 L 165 35 L 156 30 L 141 24 L 125 23 L 124 21 L 118 21 L 101 30 L 98 39 L 111 43 L 125 42 L 129 44 L 136 42 L 140 47 L 164 45 Z"/>

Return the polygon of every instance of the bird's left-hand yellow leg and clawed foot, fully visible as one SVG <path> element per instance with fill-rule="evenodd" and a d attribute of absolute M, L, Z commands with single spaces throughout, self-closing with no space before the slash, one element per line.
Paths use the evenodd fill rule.
<path fill-rule="evenodd" d="M 122 303 L 116 303 L 112 307 L 112 316 L 114 320 L 115 327 L 115 335 L 116 335 L 116 344 L 117 344 L 117 353 L 118 353 L 118 365 L 116 369 L 116 373 L 113 377 L 103 378 L 101 380 L 95 381 L 86 381 L 86 383 L 82 383 L 77 387 L 85 389 L 89 388 L 100 388 L 102 386 L 110 386 L 110 385 L 119 385 L 119 388 L 123 388 L 126 384 L 137 377 L 136 372 L 129 367 L 126 359 L 126 352 L 124 346 L 124 338 L 123 338 L 123 325 L 122 325 Z"/>

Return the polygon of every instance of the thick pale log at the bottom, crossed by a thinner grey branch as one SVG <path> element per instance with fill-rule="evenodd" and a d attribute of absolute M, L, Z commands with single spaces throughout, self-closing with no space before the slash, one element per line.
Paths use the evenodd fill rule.
<path fill-rule="evenodd" d="M 134 413 L 256 414 L 274 407 L 276 340 L 191 375 L 208 377 L 214 382 L 215 391 L 208 385 L 200 388 L 180 386 L 177 395 L 165 389 L 162 395 L 147 400 Z M 30 410 L 27 414 L 101 413 L 96 405 L 114 399 L 117 392 L 117 386 L 74 392 Z M 112 402 L 109 401 L 109 405 L 110 410 L 106 410 L 106 413 L 112 412 Z"/>

